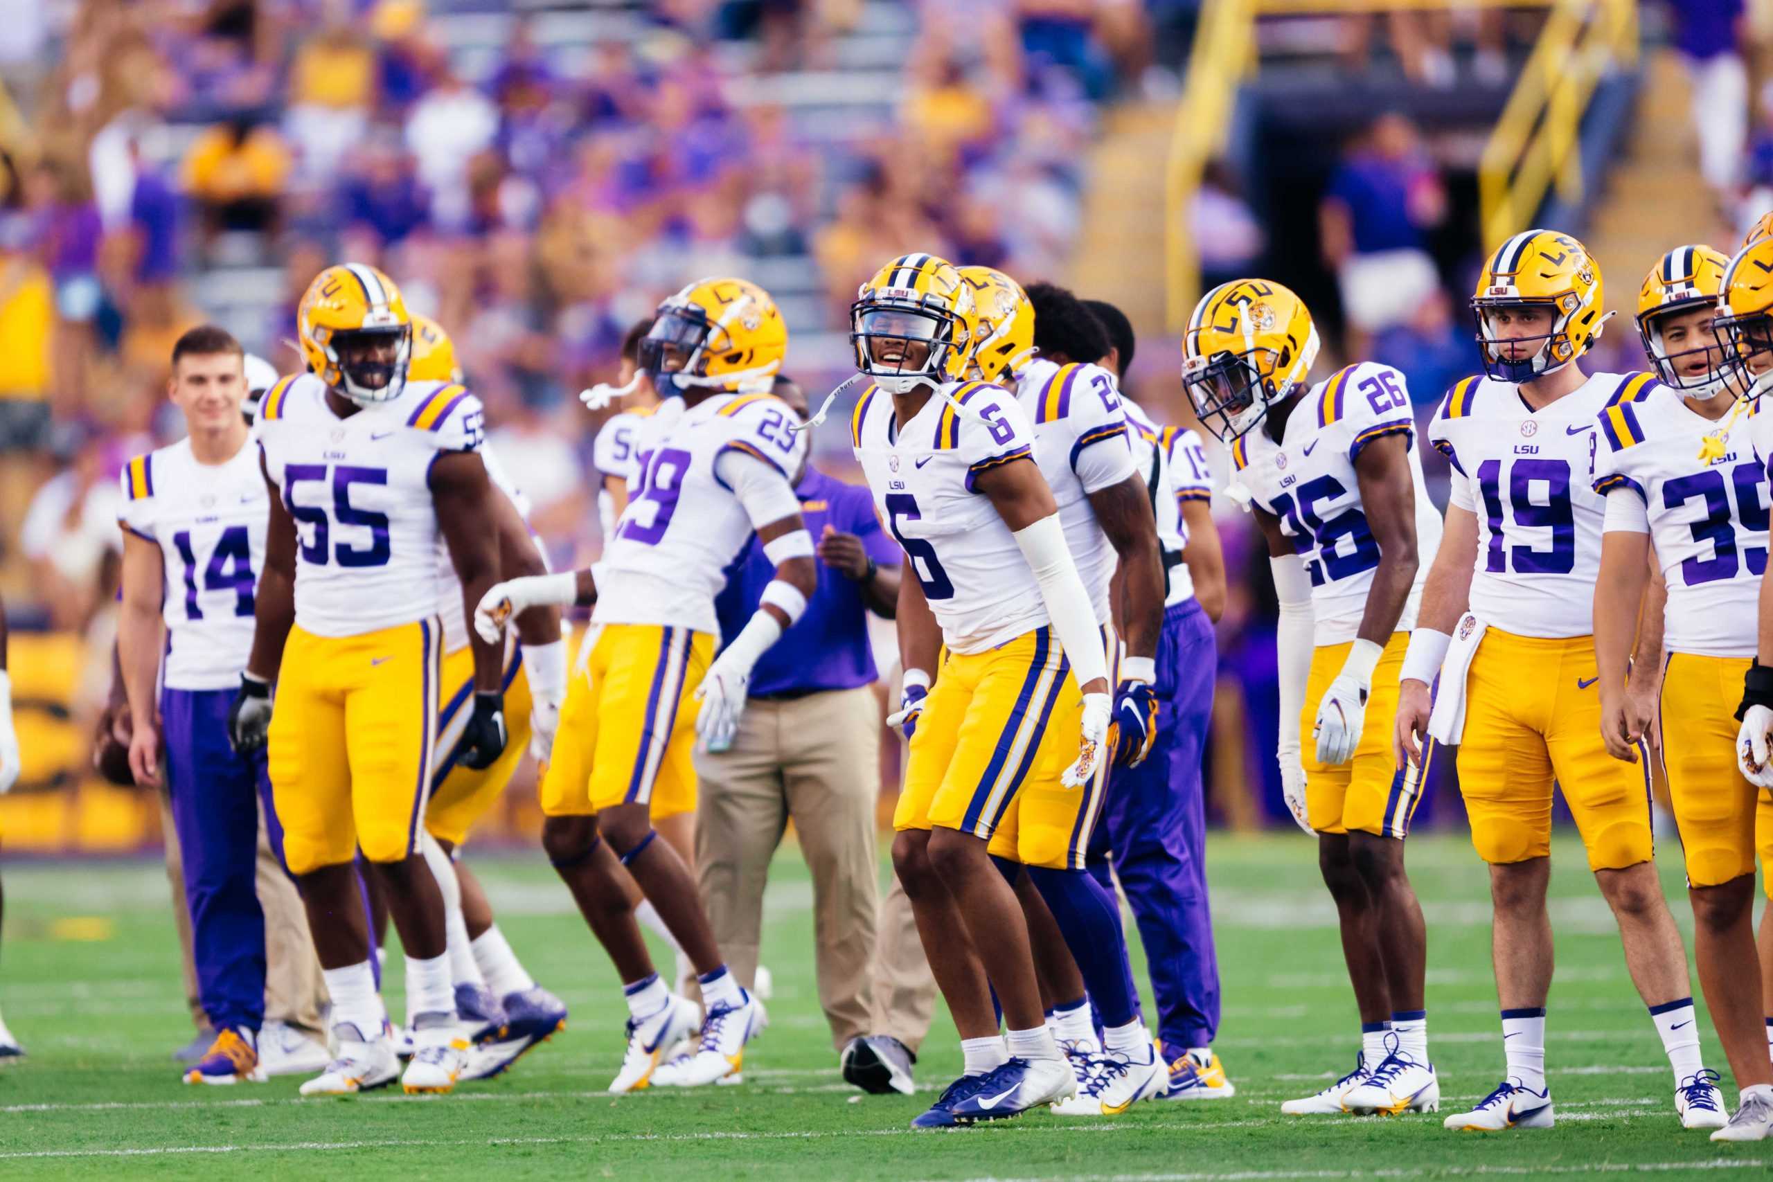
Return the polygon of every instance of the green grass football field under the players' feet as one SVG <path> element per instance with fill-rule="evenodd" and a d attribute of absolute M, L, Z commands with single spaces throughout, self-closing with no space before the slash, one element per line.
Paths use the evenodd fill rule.
<path fill-rule="evenodd" d="M 1502 1067 L 1486 875 L 1456 836 L 1411 842 L 1410 861 L 1429 920 L 1431 1047 L 1447 1100 L 1472 1100 Z M 622 1049 L 617 984 L 539 854 L 475 868 L 519 955 L 573 1007 L 569 1030 L 505 1077 L 450 1097 L 330 1100 L 298 1099 L 300 1079 L 289 1077 L 179 1083 L 167 1054 L 190 1026 L 158 863 L 12 865 L 0 1003 L 30 1058 L 0 1070 L 0 1177 L 1234 1182 L 1773 1170 L 1773 1145 L 1720 1147 L 1681 1131 L 1667 1060 L 1576 845 L 1557 847 L 1551 883 L 1558 1124 L 1495 1138 L 1445 1132 L 1438 1116 L 1280 1116 L 1282 1099 L 1323 1086 L 1355 1053 L 1333 911 L 1300 836 L 1216 838 L 1211 863 L 1225 984 L 1218 1049 L 1238 1097 L 1142 1104 L 1117 1120 L 1039 1113 L 945 1134 L 906 1127 L 959 1070 L 943 1014 L 917 1097 L 862 1097 L 839 1079 L 812 984 L 810 888 L 791 847 L 768 900 L 773 1023 L 746 1054 L 746 1083 L 622 1099 L 603 1092 Z M 1677 852 L 1663 879 L 1690 929 Z M 399 1014 L 401 973 L 388 978 Z M 1704 1040 L 1707 1063 L 1722 1067 L 1709 1023 Z M 1729 1081 L 1725 1093 L 1734 1100 Z"/>

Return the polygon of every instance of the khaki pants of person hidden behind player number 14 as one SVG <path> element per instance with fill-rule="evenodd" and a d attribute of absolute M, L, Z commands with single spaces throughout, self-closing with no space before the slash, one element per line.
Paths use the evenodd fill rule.
<path fill-rule="evenodd" d="M 202 999 L 197 996 L 197 962 L 191 959 L 191 913 L 184 904 L 184 863 L 179 854 L 179 831 L 172 824 L 172 805 L 160 794 L 160 833 L 167 849 L 167 883 L 172 886 L 172 920 L 179 929 L 179 950 L 184 968 L 184 1003 L 191 1024 L 207 1030 Z M 314 955 L 314 937 L 309 934 L 309 913 L 301 906 L 296 884 L 284 874 L 282 863 L 259 815 L 257 858 L 259 906 L 264 909 L 264 1021 L 287 1023 L 307 1033 L 326 1037 L 323 1010 L 328 1005 L 326 980 L 321 976 L 319 957 Z"/>

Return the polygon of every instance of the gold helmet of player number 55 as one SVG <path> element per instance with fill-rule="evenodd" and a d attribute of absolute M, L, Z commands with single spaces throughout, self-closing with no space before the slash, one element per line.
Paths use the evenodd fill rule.
<path fill-rule="evenodd" d="M 413 321 L 376 268 L 340 262 L 316 275 L 296 307 L 296 337 L 309 372 L 353 402 L 392 402 L 406 388 Z"/>

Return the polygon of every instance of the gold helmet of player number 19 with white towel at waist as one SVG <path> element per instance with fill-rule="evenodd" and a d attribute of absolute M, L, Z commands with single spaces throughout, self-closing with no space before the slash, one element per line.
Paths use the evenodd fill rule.
<path fill-rule="evenodd" d="M 1544 308 L 1548 331 L 1504 338 L 1496 319 L 1514 308 Z M 1489 377 L 1519 385 L 1555 374 L 1601 337 L 1601 268 L 1569 234 L 1523 230 L 1484 262 L 1472 314 Z"/>

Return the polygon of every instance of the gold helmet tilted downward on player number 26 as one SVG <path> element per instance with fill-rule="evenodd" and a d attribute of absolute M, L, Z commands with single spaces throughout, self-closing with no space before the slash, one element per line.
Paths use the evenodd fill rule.
<path fill-rule="evenodd" d="M 1317 328 L 1289 289 L 1241 278 L 1200 298 L 1183 353 L 1183 386 L 1200 424 L 1230 443 L 1262 422 L 1269 406 L 1305 388 Z"/>

